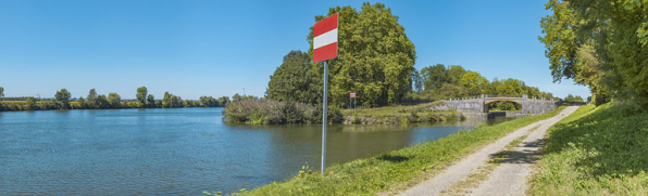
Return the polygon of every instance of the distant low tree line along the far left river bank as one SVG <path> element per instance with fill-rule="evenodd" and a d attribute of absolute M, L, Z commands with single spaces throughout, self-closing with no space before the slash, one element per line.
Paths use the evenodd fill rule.
<path fill-rule="evenodd" d="M 164 92 L 162 100 L 155 100 L 153 94 L 148 94 L 146 87 L 137 89 L 136 101 L 123 101 L 121 95 L 114 92 L 98 94 L 90 89 L 86 97 L 73 99 L 72 93 L 61 89 L 52 100 L 39 100 L 34 96 L 27 97 L 24 102 L 0 102 L 0 110 L 46 110 L 46 109 L 108 109 L 108 108 L 175 108 L 175 107 L 224 107 L 229 104 L 228 96 L 215 99 L 213 96 L 200 96 L 198 101 L 183 100 L 180 96 Z M 4 88 L 0 87 L 0 99 L 4 96 Z M 238 94 L 235 99 L 242 100 Z"/>

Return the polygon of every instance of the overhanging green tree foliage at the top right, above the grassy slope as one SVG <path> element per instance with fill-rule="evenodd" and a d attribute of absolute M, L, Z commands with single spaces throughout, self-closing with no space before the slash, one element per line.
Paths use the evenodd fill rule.
<path fill-rule="evenodd" d="M 593 91 L 648 106 L 648 2 L 550 0 L 540 22 L 554 81 L 572 78 Z"/>

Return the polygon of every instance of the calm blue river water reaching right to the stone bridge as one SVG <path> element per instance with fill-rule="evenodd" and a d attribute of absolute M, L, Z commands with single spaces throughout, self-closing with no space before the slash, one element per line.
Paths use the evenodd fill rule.
<path fill-rule="evenodd" d="M 0 195 L 203 195 L 319 171 L 321 125 L 227 125 L 222 109 L 0 113 Z M 333 125 L 327 166 L 502 120 Z"/>

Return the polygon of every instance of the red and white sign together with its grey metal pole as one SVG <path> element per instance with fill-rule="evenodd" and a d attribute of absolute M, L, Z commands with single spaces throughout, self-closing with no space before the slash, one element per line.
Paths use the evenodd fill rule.
<path fill-rule="evenodd" d="M 326 126 L 328 125 L 328 63 L 337 57 L 338 13 L 335 13 L 313 26 L 313 63 L 324 61 L 324 94 L 322 108 L 322 174 L 326 171 Z"/>

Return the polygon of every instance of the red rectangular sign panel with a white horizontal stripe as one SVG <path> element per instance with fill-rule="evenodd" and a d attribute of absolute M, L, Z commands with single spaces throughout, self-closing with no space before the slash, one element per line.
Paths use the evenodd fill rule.
<path fill-rule="evenodd" d="M 337 56 L 337 15 L 335 13 L 313 27 L 313 63 Z"/>

